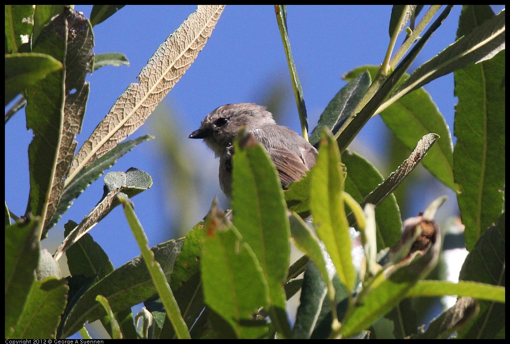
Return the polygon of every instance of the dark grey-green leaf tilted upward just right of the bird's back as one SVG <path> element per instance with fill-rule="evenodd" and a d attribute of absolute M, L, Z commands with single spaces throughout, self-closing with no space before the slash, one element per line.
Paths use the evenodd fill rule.
<path fill-rule="evenodd" d="M 354 108 L 365 95 L 370 83 L 370 74 L 365 71 L 342 87 L 320 115 L 317 126 L 310 134 L 310 143 L 317 146 L 324 127 L 331 130 L 333 134 L 338 132 L 347 118 L 352 115 Z"/>

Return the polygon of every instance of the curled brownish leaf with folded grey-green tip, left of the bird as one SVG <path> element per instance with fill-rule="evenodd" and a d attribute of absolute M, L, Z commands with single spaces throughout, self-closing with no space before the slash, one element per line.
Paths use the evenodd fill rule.
<path fill-rule="evenodd" d="M 152 178 L 144 171 L 131 167 L 124 172 L 110 172 L 105 176 L 105 193 L 103 199 L 86 215 L 82 222 L 72 230 L 55 252 L 55 259 L 90 231 L 120 203 L 116 198 L 118 192 L 133 197 L 152 186 Z"/>

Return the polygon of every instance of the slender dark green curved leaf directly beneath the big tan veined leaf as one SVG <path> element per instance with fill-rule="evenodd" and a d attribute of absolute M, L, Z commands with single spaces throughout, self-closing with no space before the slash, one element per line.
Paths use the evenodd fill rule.
<path fill-rule="evenodd" d="M 112 167 L 117 159 L 131 151 L 141 142 L 153 139 L 154 136 L 145 135 L 137 139 L 119 143 L 114 149 L 94 160 L 87 168 L 82 169 L 80 173 L 64 187 L 62 196 L 60 197 L 59 205 L 52 216 L 52 219 L 46 225 L 45 230 L 55 226 L 67 209 L 71 206 L 72 202 L 82 194 L 85 189 L 92 184 L 97 178 L 103 175 L 104 170 Z"/>

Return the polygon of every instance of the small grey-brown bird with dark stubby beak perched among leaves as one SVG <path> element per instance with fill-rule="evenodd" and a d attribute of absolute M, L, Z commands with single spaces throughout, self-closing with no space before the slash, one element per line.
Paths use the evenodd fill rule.
<path fill-rule="evenodd" d="M 189 138 L 203 138 L 220 159 L 220 187 L 229 199 L 232 198 L 233 142 L 243 128 L 269 153 L 282 187 L 301 179 L 315 165 L 315 147 L 298 133 L 278 126 L 265 107 L 252 103 L 220 106 L 202 120 L 200 128 Z"/>

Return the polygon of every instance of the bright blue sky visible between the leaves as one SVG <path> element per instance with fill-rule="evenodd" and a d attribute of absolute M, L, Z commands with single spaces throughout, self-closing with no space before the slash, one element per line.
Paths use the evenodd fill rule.
<path fill-rule="evenodd" d="M 91 8 L 77 5 L 75 10 L 84 12 L 88 17 Z M 497 12 L 501 8 L 494 10 Z M 137 82 L 138 73 L 158 46 L 195 9 L 196 5 L 126 6 L 94 27 L 95 53 L 120 52 L 127 56 L 131 65 L 107 66 L 88 76 L 91 92 L 82 134 L 77 138 L 79 146 L 126 87 Z M 425 45 L 416 66 L 454 41 L 460 12 L 460 6 L 453 8 L 443 26 Z M 288 6 L 292 53 L 307 105 L 310 131 L 330 99 L 345 85 L 346 82 L 341 79 L 345 72 L 361 65 L 381 63 L 389 42 L 390 14 L 391 6 Z M 199 127 L 203 117 L 218 106 L 259 103 L 263 99 L 261 94 L 269 91 L 267 85 L 274 81 L 287 89 L 279 124 L 300 132 L 274 7 L 228 5 L 197 60 L 163 101 L 174 113 L 174 124 L 182 144 L 193 152 L 189 159 L 199 162 L 205 178 L 210 181 L 208 190 L 200 195 L 203 201 L 197 208 L 194 223 L 207 213 L 214 195 L 218 195 L 223 203 L 225 201 L 217 182 L 218 161 L 214 160 L 213 153 L 206 149 L 202 140 L 190 140 L 187 136 Z M 424 88 L 431 94 L 452 131 L 456 103 L 453 76 L 442 77 Z M 156 134 L 155 125 L 156 121 L 149 117 L 131 138 Z M 374 117 L 352 144 L 378 167 L 384 165 L 384 155 L 382 158 L 380 155 L 385 153 L 386 131 L 381 127 L 384 127 L 382 120 Z M 27 149 L 31 137 L 32 133 L 26 129 L 24 111 L 21 111 L 6 125 L 5 138 L 6 202 L 18 215 L 24 213 L 29 193 Z M 163 191 L 167 182 L 159 147 L 158 138 L 144 142 L 110 169 L 125 171 L 134 166 L 152 176 L 154 186 L 133 199 L 150 245 L 176 237 L 167 229 L 172 220 L 171 203 L 168 193 Z M 59 226 L 63 227 L 68 219 L 80 222 L 100 199 L 102 189 L 103 177 L 75 201 Z M 445 188 L 434 192 L 427 194 L 426 200 L 417 209 L 426 207 L 428 202 L 443 194 Z M 452 197 L 450 200 L 453 203 L 451 210 L 455 201 Z M 57 228 L 52 232 L 56 240 L 63 239 L 63 229 Z M 90 234 L 110 256 L 114 267 L 139 254 L 121 208 L 115 209 Z"/>

